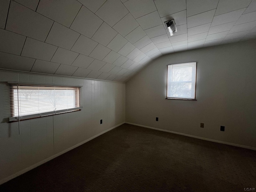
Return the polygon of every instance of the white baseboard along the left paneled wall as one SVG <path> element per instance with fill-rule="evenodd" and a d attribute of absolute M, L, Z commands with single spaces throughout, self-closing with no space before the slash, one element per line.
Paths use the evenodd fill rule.
<path fill-rule="evenodd" d="M 96 138 L 96 137 L 98 137 L 98 136 L 100 136 L 100 135 L 102 135 L 102 134 L 104 134 L 104 133 L 106 133 L 106 132 L 108 132 L 108 131 L 110 131 L 110 130 L 118 127 L 118 126 L 120 126 L 120 125 L 122 125 L 122 124 L 124 124 L 124 123 L 125 122 L 122 122 L 122 123 L 120 123 L 120 124 L 118 124 L 118 125 L 116 125 L 116 126 L 114 126 L 112 128 L 109 128 L 109 129 L 107 129 L 107 130 L 105 130 L 105 131 L 103 131 L 103 132 L 101 132 L 101 133 L 99 133 L 99 134 L 97 134 L 95 136 L 92 136 L 91 138 L 89 138 L 87 140 L 84 140 L 83 142 L 80 142 L 80 143 L 78 143 L 78 144 L 76 144 L 76 145 L 74 145 L 74 146 L 72 146 L 72 147 L 70 147 L 70 148 L 68 148 L 68 149 L 66 149 L 66 150 L 64 150 L 62 152 L 59 152 L 59 153 L 57 153 L 57 154 L 55 154 L 53 156 L 50 156 L 47 159 L 44 159 L 44 160 L 42 160 L 42 161 L 40 161 L 40 162 L 38 162 L 38 163 L 36 163 L 36 164 L 34 164 L 32 166 L 29 166 L 28 168 L 25 168 L 25 169 L 15 173 L 15 174 L 11 175 L 11 176 L 8 176 L 7 178 L 4 178 L 4 179 L 0 180 L 0 185 L 5 183 L 5 182 L 7 182 L 7 181 L 9 181 L 9 180 L 11 180 L 11 179 L 13 179 L 13 178 L 15 178 L 15 177 L 20 176 L 20 175 L 22 175 L 22 174 L 24 174 L 24 173 L 26 173 L 26 172 L 34 169 L 34 168 L 36 168 L 36 167 L 46 163 L 46 162 L 48 162 L 48 161 L 50 161 L 50 160 L 52 160 L 52 159 L 54 159 L 54 158 L 56 158 L 56 157 L 58 157 L 58 156 L 60 156 L 60 155 L 62 155 L 64 153 L 66 153 L 66 152 L 68 152 L 68 151 L 70 151 L 70 150 L 72 150 L 72 149 L 82 145 L 82 144 L 85 144 L 86 142 L 88 142 L 88 141 L 90 141 L 90 140 L 92 140 L 92 139 L 94 139 L 94 138 Z"/>

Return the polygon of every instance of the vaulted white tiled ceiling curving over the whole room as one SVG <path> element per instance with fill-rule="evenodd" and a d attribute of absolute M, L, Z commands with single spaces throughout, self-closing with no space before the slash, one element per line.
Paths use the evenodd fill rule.
<path fill-rule="evenodd" d="M 250 38 L 256 0 L 0 1 L 4 69 L 126 82 L 163 54 Z"/>

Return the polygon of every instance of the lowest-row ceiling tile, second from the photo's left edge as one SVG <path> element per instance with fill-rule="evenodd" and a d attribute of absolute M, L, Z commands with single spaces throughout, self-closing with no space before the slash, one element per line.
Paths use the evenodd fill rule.
<path fill-rule="evenodd" d="M 37 73 L 46 73 L 46 74 L 54 74 L 58 67 L 60 66 L 59 63 L 43 61 L 43 60 L 36 60 L 34 63 L 31 71 Z"/>

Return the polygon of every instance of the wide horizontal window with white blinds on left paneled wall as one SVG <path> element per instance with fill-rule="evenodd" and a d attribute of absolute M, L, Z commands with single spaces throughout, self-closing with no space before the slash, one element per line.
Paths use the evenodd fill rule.
<path fill-rule="evenodd" d="M 10 84 L 9 121 L 37 118 L 82 108 L 81 87 Z"/>

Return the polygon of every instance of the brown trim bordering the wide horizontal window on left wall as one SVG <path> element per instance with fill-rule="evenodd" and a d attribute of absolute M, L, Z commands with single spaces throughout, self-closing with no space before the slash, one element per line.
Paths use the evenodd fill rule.
<path fill-rule="evenodd" d="M 29 115 L 20 115 L 20 116 L 10 116 L 9 122 L 17 122 L 22 120 L 28 120 L 28 119 L 34 119 L 34 118 L 40 118 L 45 116 L 51 116 L 56 114 L 62 114 L 67 112 L 74 112 L 74 111 L 80 111 L 82 110 L 82 87 L 80 85 L 60 85 L 60 84 L 36 84 L 36 83 L 19 83 L 19 82 L 7 82 L 8 86 L 11 88 L 11 86 L 43 86 L 43 87 L 58 87 L 58 88 L 79 88 L 79 107 L 76 108 L 68 108 L 68 109 L 62 109 L 62 110 L 56 110 L 56 111 L 50 111 L 50 112 L 42 112 L 42 113 L 36 113 L 36 114 L 29 114 Z M 10 94 L 12 94 L 10 92 Z M 10 100 L 10 110 L 12 111 L 13 101 Z M 13 115 L 13 114 L 11 114 Z"/>

